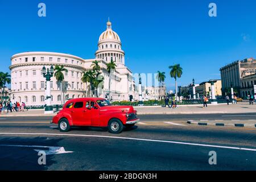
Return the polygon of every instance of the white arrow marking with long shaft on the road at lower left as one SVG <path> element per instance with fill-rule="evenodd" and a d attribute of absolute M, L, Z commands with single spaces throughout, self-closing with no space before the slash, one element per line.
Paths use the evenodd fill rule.
<path fill-rule="evenodd" d="M 43 150 L 46 152 L 46 155 L 52 154 L 67 154 L 72 153 L 73 151 L 65 151 L 64 147 L 49 147 L 49 146 L 26 146 L 26 145 L 14 145 L 14 144 L 0 144 L 2 147 L 29 147 L 29 148 L 49 148 L 48 150 Z M 34 149 L 34 151 L 39 152 L 42 150 Z"/>

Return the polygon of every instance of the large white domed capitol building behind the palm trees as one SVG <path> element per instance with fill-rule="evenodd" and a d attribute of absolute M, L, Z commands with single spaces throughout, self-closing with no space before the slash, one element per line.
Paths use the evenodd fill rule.
<path fill-rule="evenodd" d="M 100 61 L 101 75 L 104 77 L 98 97 L 106 98 L 109 93 L 112 101 L 129 100 L 137 97 L 132 72 L 125 65 L 125 52 L 122 50 L 121 39 L 112 30 L 112 23 L 108 21 L 106 31 L 102 32 L 98 40 L 98 50 L 94 59 L 57 52 L 22 52 L 11 57 L 11 101 L 25 102 L 27 106 L 44 105 L 46 98 L 46 79 L 42 68 L 63 65 L 64 81 L 60 83 L 55 77 L 51 78 L 52 105 L 60 105 L 71 98 L 89 97 L 89 83 L 81 81 L 82 73 L 92 69 L 93 61 Z M 117 67 L 109 74 L 106 64 L 113 60 Z M 64 85 L 63 93 L 60 84 Z"/>

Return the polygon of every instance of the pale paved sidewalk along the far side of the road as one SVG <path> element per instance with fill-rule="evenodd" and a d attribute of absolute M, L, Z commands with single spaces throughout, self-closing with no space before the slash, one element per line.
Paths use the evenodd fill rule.
<path fill-rule="evenodd" d="M 220 105 L 208 105 L 207 108 L 203 108 L 203 105 L 182 105 L 176 109 L 170 109 L 162 106 L 139 106 L 134 107 L 138 111 L 138 114 L 225 114 L 225 113 L 256 113 L 256 104 L 249 105 L 248 102 L 238 102 L 238 104 L 220 104 Z M 49 116 L 56 115 L 48 114 Z M 26 116 L 46 116 L 44 110 L 28 110 L 15 113 L 1 114 L 1 117 L 26 117 Z"/>

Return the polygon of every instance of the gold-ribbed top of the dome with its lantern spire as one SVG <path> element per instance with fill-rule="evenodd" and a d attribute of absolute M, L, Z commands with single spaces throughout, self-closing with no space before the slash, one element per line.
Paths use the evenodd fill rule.
<path fill-rule="evenodd" d="M 111 22 L 107 22 L 107 29 L 106 31 L 104 31 L 100 38 L 98 39 L 98 42 L 99 43 L 102 43 L 102 42 L 119 42 L 121 43 L 121 40 L 118 36 L 118 34 L 116 32 L 114 32 L 112 30 L 112 23 Z"/>

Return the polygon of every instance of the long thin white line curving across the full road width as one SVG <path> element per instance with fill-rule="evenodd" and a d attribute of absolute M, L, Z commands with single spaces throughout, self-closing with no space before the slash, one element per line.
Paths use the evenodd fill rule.
<path fill-rule="evenodd" d="M 146 142 L 160 142 L 160 143 L 174 143 L 174 144 L 185 144 L 189 146 L 201 146 L 201 147 L 214 147 L 214 148 L 226 148 L 233 150 L 245 150 L 245 151 L 255 151 L 254 148 L 241 148 L 241 147 L 228 147 L 228 146 L 217 146 L 211 144 L 200 144 L 200 143 L 188 143 L 188 142 L 175 142 L 168 140 L 154 140 L 154 139 L 143 139 L 143 138 L 127 138 L 127 137 L 113 137 L 104 135 L 81 135 L 81 134 L 53 134 L 53 133 L 0 133 L 0 135 L 49 135 L 49 136 L 67 136 L 67 137 L 95 137 L 95 138 L 114 138 L 114 139 L 127 139 L 127 140 L 140 140 Z"/>

